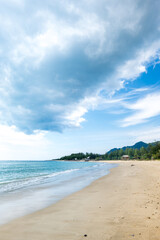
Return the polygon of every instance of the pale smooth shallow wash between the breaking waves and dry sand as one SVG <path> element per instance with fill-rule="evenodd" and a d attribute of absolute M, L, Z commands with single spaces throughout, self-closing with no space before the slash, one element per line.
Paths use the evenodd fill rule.
<path fill-rule="evenodd" d="M 53 167 L 55 166 L 57 165 L 53 165 Z M 28 186 L 24 188 L 21 186 L 19 189 L 15 189 L 15 191 L 8 192 L 3 192 L 2 187 L 0 198 L 0 226 L 41 209 L 45 209 L 63 198 L 80 191 L 96 179 L 109 174 L 109 170 L 116 167 L 117 164 L 85 163 L 84 167 L 81 168 L 82 165 L 76 163 L 72 168 L 71 163 L 69 166 L 69 170 L 52 173 L 51 175 L 45 176 L 45 178 L 42 176 L 42 179 L 39 178 L 41 183 L 37 185 L 28 184 Z M 28 178 L 28 182 L 29 180 Z M 25 181 L 24 183 L 26 184 Z M 9 185 L 9 187 L 11 188 L 12 185 Z"/>

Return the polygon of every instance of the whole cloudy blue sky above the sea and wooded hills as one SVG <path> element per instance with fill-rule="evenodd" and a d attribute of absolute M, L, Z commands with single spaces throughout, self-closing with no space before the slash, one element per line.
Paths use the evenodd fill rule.
<path fill-rule="evenodd" d="M 158 0 L 0 6 L 0 160 L 160 140 Z"/>

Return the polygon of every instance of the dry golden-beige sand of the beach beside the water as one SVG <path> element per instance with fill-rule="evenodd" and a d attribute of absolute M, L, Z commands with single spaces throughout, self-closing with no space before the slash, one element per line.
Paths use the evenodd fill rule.
<path fill-rule="evenodd" d="M 0 227 L 0 240 L 42 239 L 159 240 L 160 162 L 121 161 L 83 190 Z"/>

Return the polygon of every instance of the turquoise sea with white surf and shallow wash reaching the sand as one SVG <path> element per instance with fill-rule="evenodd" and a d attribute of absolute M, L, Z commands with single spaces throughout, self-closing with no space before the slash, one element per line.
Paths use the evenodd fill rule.
<path fill-rule="evenodd" d="M 0 224 L 57 202 L 115 166 L 101 162 L 0 161 Z"/>

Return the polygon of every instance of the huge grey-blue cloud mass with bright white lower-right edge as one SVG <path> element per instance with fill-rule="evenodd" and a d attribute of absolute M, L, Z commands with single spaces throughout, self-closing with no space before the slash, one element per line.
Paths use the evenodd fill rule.
<path fill-rule="evenodd" d="M 1 123 L 22 131 L 80 126 L 159 57 L 158 1 L 0 3 Z"/>

